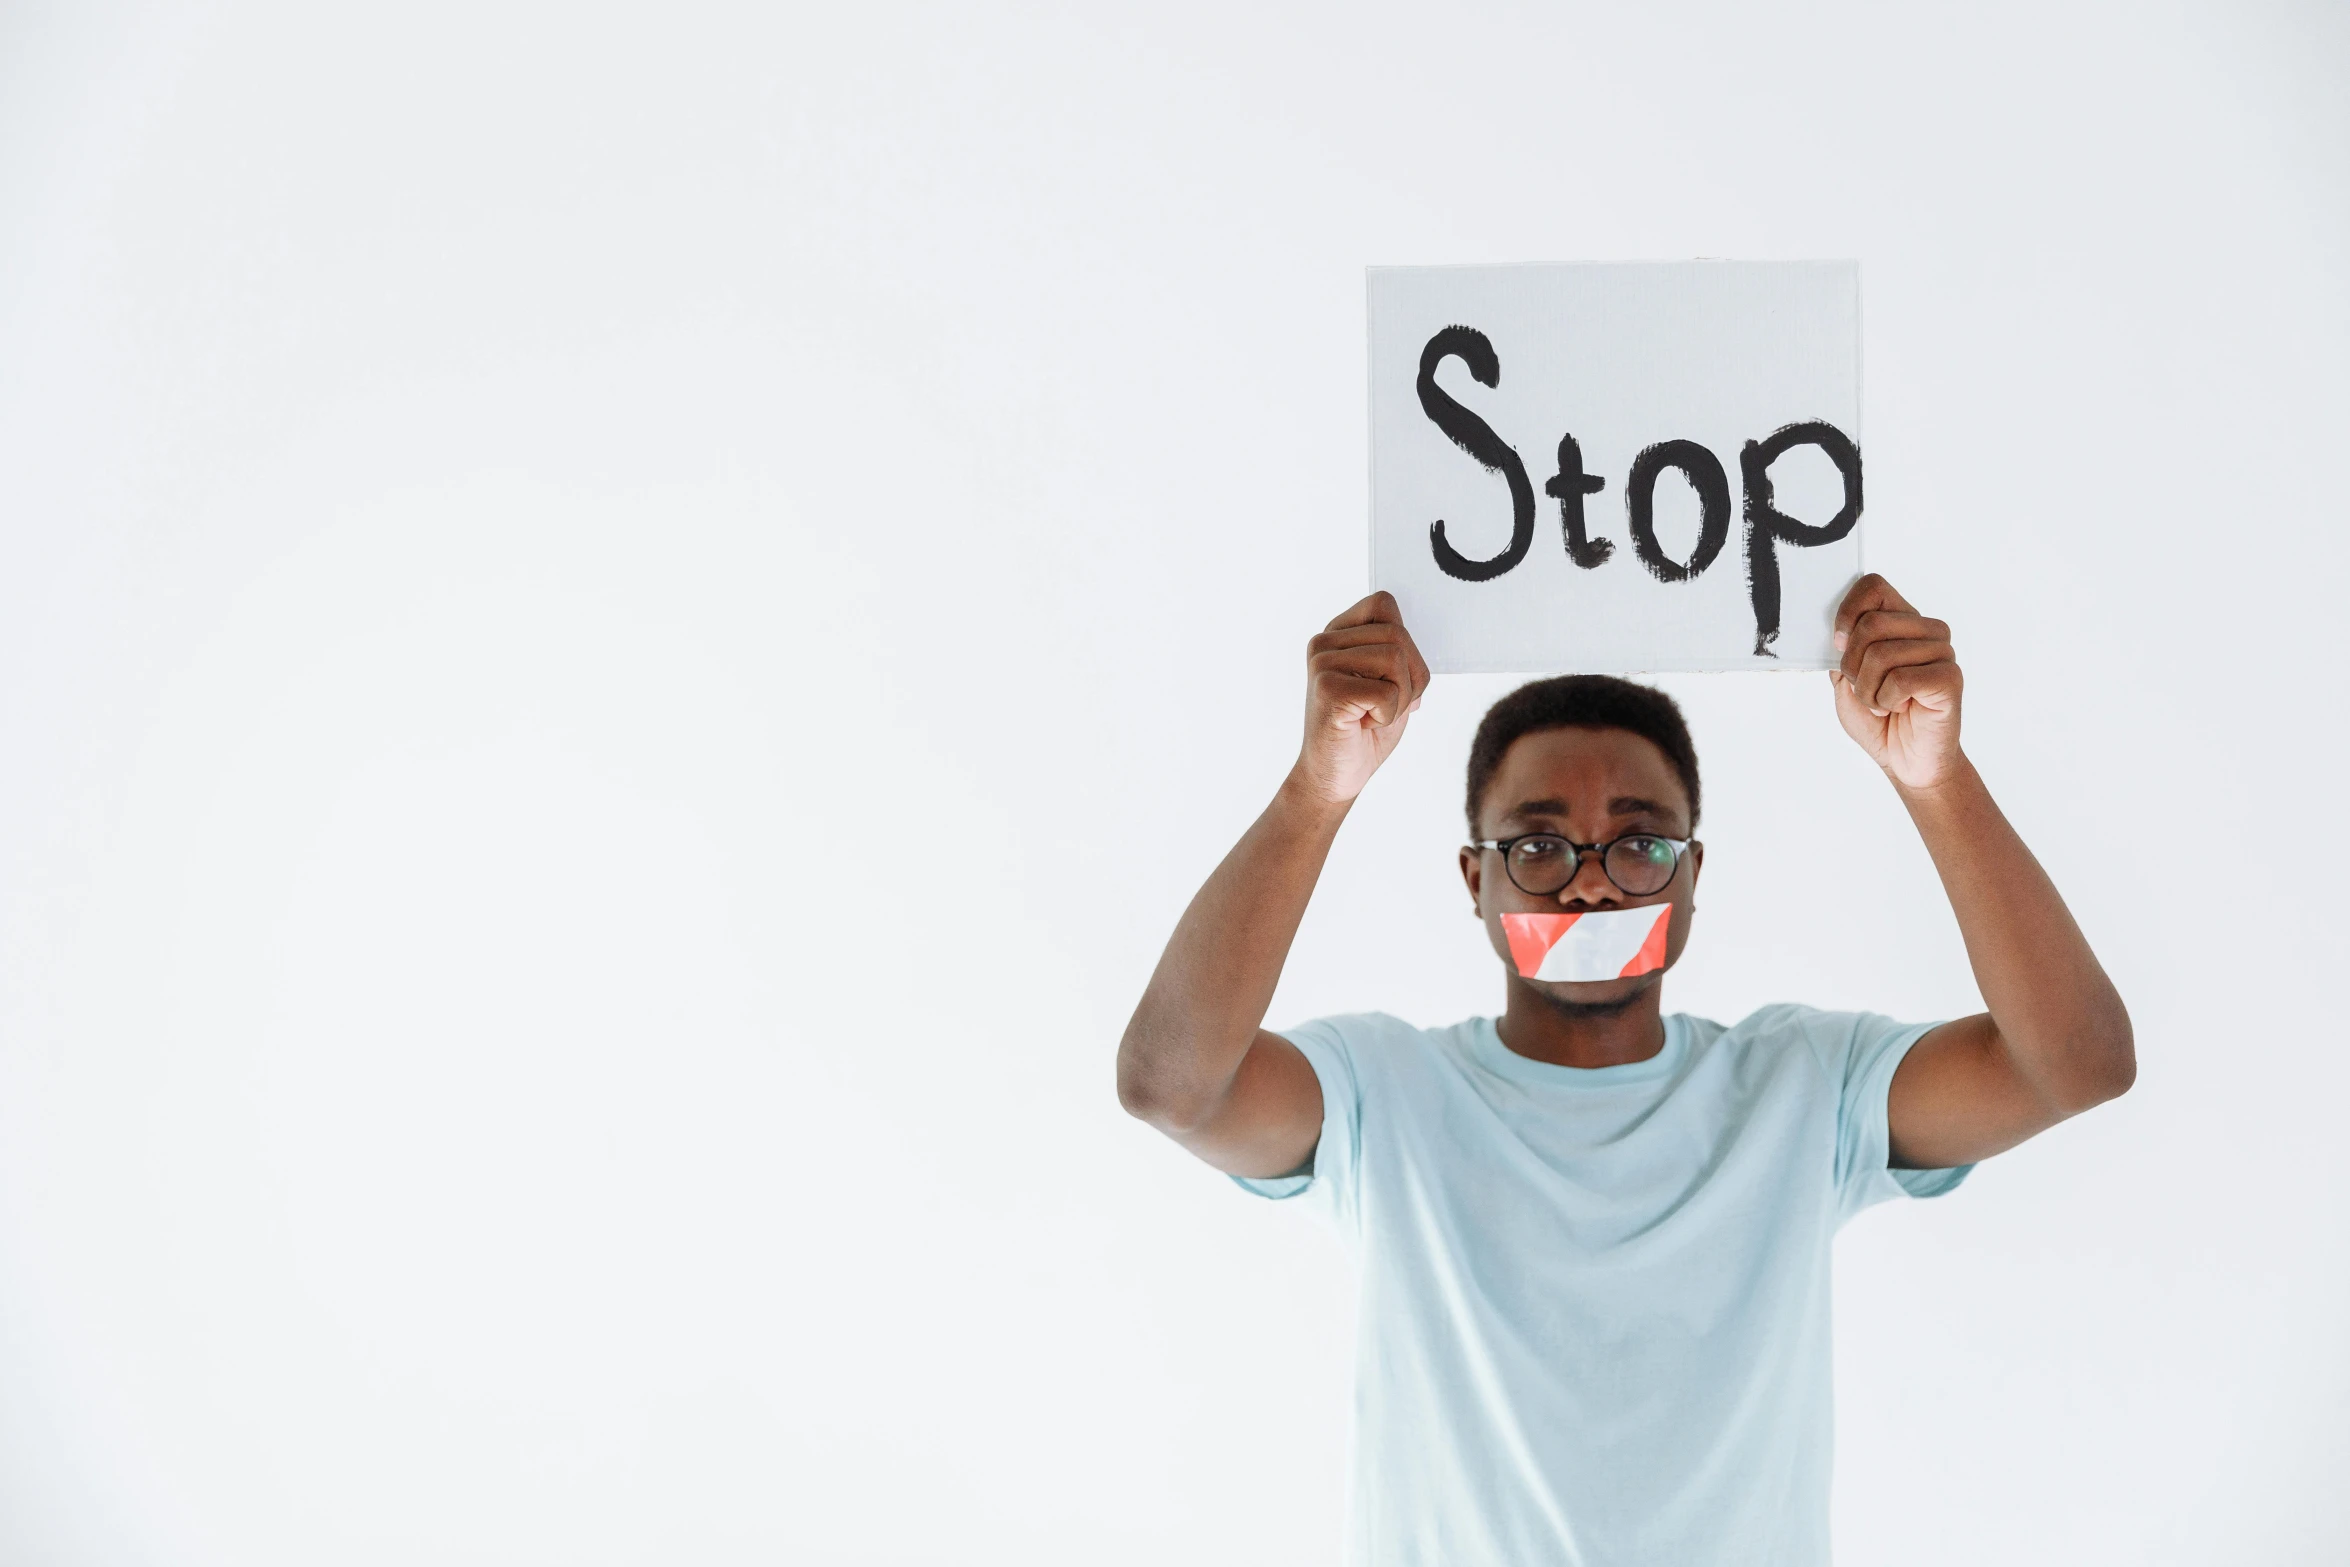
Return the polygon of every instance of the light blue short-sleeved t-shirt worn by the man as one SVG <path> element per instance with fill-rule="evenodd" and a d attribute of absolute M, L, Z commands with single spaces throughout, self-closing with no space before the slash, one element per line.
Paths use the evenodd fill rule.
<path fill-rule="evenodd" d="M 1349 1562 L 1826 1567 L 1828 1243 L 1974 1165 L 1889 1170 L 1885 1090 L 1934 1024 L 1666 1017 L 1622 1067 L 1490 1017 L 1285 1031 L 1309 1175 L 1358 1264 Z"/>

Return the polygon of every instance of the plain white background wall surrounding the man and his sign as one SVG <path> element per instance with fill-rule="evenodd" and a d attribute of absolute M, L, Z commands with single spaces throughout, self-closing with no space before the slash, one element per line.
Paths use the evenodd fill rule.
<path fill-rule="evenodd" d="M 0 1560 L 1328 1562 L 1112 1055 L 1363 587 L 1363 265 L 1856 256 L 2136 1090 L 1838 1252 L 1845 1565 L 2338 1562 L 2326 5 L 0 12 Z M 1274 1020 L 1490 1008 L 1450 677 Z M 1678 1006 L 1974 1006 L 1685 677 Z"/>

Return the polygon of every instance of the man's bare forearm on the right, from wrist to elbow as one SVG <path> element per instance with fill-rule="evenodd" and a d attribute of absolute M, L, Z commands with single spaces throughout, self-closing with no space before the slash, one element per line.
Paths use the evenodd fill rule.
<path fill-rule="evenodd" d="M 2129 1013 L 2056 883 L 1972 761 L 1939 785 L 1894 785 L 1925 839 L 1967 942 L 1974 982 L 2016 1069 L 2073 1114 L 2136 1076 Z"/>

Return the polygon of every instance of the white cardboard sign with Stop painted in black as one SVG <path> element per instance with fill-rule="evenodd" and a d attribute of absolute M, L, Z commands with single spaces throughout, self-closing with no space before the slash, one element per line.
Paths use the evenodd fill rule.
<path fill-rule="evenodd" d="M 1370 268 L 1370 583 L 1431 670 L 1826 670 L 1852 261 Z"/>

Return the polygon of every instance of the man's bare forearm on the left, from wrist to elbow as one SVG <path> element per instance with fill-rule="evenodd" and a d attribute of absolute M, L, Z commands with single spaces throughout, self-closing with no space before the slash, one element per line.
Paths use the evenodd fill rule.
<path fill-rule="evenodd" d="M 1119 1041 L 1126 1109 L 1187 1123 L 1224 1097 L 1349 808 L 1292 771 L 1191 897 Z"/>

